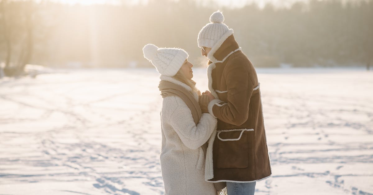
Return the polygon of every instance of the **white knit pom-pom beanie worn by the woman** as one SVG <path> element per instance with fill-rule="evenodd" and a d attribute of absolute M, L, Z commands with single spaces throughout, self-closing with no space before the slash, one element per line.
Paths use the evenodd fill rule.
<path fill-rule="evenodd" d="M 153 44 L 147 44 L 142 48 L 144 57 L 148 59 L 161 75 L 175 76 L 184 64 L 188 53 L 178 48 L 158 48 Z"/>

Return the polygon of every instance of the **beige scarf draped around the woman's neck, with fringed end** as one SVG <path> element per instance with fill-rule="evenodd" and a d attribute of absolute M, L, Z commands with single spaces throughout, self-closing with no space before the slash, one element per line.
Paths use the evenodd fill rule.
<path fill-rule="evenodd" d="M 200 105 L 198 104 L 197 100 L 194 99 L 191 92 L 178 84 L 163 80 L 159 82 L 158 88 L 161 91 L 161 96 L 163 98 L 167 96 L 179 96 L 192 112 L 195 125 L 198 124 L 202 116 L 202 111 Z M 201 146 L 205 154 L 207 145 L 208 141 Z M 216 195 L 227 195 L 226 182 L 214 183 L 214 186 L 216 189 Z"/>

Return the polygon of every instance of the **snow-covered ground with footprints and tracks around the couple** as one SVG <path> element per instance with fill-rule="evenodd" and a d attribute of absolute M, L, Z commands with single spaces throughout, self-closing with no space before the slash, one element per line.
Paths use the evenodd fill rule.
<path fill-rule="evenodd" d="M 256 195 L 373 194 L 373 72 L 258 77 L 273 175 Z M 158 82 L 155 69 L 0 80 L 0 194 L 163 194 Z"/>

